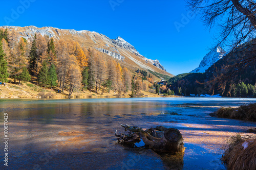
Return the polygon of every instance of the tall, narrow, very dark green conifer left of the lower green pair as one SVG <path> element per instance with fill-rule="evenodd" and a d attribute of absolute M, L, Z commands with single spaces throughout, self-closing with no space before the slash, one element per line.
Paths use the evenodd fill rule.
<path fill-rule="evenodd" d="M 34 75 L 36 73 L 37 69 L 37 46 L 36 46 L 36 35 L 34 37 L 34 40 L 32 42 L 32 46 L 29 53 L 29 71 Z"/>

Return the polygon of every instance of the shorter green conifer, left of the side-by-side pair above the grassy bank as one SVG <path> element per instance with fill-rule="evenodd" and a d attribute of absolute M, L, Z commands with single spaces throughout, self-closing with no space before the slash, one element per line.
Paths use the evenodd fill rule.
<path fill-rule="evenodd" d="M 48 87 L 49 85 L 49 68 L 46 60 L 42 62 L 42 67 L 38 74 L 38 83 L 40 86 Z"/>

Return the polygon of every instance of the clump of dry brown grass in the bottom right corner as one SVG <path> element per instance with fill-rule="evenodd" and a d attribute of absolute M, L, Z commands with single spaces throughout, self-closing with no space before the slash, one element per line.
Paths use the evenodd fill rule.
<path fill-rule="evenodd" d="M 251 144 L 244 150 L 242 144 L 248 140 Z M 227 139 L 224 149 L 222 161 L 227 165 L 228 170 L 256 169 L 256 136 L 242 137 L 240 134 L 231 136 Z"/>

